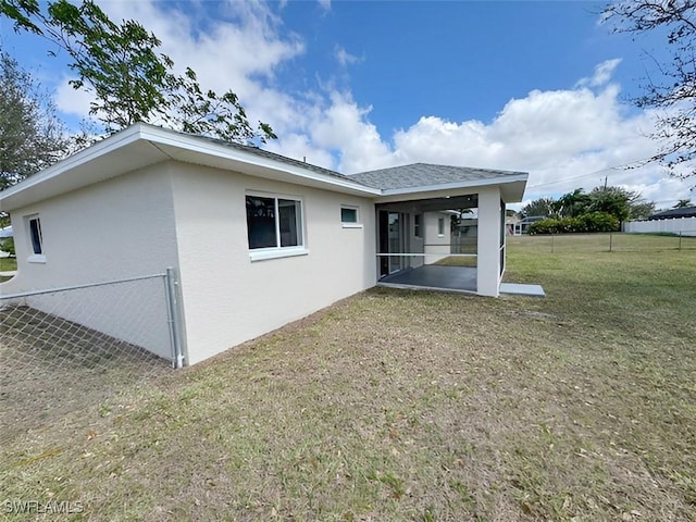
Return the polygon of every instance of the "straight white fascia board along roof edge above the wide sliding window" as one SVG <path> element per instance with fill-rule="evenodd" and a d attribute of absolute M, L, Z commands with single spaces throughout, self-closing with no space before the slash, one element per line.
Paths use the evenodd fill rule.
<path fill-rule="evenodd" d="M 311 182 L 314 186 L 316 186 L 316 184 L 322 186 L 327 185 L 339 191 L 351 191 L 368 197 L 382 195 L 382 190 L 361 185 L 357 182 L 332 177 L 327 174 L 313 172 L 299 165 L 293 165 L 272 158 L 264 158 L 252 152 L 238 150 L 213 141 L 189 137 L 173 130 L 147 126 L 144 128 L 141 137 L 152 144 L 202 154 L 203 158 L 219 158 L 225 162 L 229 162 L 231 170 L 238 170 L 241 173 L 262 175 L 261 171 L 270 171 L 284 177 L 290 176 L 286 179 L 289 183 L 299 182 L 301 184 L 301 182 Z M 177 157 L 177 153 L 172 154 L 172 151 L 167 153 L 174 160 L 185 161 L 183 157 Z M 220 165 L 215 164 L 214 166 Z"/>

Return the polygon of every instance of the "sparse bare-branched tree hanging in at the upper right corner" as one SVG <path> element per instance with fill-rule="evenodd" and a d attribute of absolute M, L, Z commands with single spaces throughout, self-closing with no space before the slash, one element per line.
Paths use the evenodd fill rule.
<path fill-rule="evenodd" d="M 661 114 L 654 138 L 662 146 L 649 161 L 678 177 L 696 175 L 696 0 L 622 0 L 604 16 L 614 33 L 664 30 L 671 61 L 655 59 L 657 72 L 634 102 Z"/>

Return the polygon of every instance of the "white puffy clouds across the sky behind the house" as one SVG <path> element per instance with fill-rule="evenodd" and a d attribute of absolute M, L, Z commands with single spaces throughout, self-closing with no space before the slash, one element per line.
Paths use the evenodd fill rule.
<path fill-rule="evenodd" d="M 592 189 L 606 175 L 609 184 L 639 190 L 663 206 L 691 196 L 693 182 L 668 178 L 656 165 L 614 169 L 657 149 L 647 137 L 655 128 L 654 115 L 630 112 L 611 82 L 620 59 L 598 64 L 572 88 L 511 99 L 489 122 L 422 115 L 407 128 L 382 135 L 370 122 L 372 108 L 359 105 L 350 89 L 336 88 L 331 78 L 300 94 L 276 85 L 277 71 L 291 66 L 308 44 L 288 33 L 268 4 L 229 1 L 215 20 L 201 13 L 208 16 L 204 30 L 191 25 L 195 13 L 184 15 L 166 3 L 103 5 L 115 20 L 139 20 L 161 38 L 163 51 L 177 65 L 196 70 L 204 88 L 232 87 L 249 120 L 269 122 L 279 136 L 269 150 L 290 158 L 345 173 L 411 162 L 522 170 L 530 172 L 527 198 Z M 358 60 L 340 46 L 335 58 L 341 66 Z M 314 80 L 311 75 L 306 79 Z M 62 110 L 79 112 L 82 107 L 86 113 L 88 105 L 89 97 L 59 90 Z"/>

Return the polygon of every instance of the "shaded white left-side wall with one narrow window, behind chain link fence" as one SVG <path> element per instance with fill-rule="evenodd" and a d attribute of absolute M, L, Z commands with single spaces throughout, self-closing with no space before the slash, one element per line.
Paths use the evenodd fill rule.
<path fill-rule="evenodd" d="M 30 249 L 26 216 L 38 214 L 41 223 L 45 263 L 28 262 Z M 85 285 L 103 281 L 162 273 L 176 266 L 174 207 L 166 166 L 119 176 L 96 185 L 15 209 L 11 212 L 17 257 L 17 274 L 0 284 L 0 295 Z M 170 357 L 164 308 L 164 287 L 145 285 L 157 291 L 161 307 L 150 307 L 151 318 L 124 304 L 124 291 L 137 286 L 108 286 L 92 290 L 70 290 L 25 298 L 24 303 L 47 313 L 89 326 L 136 344 L 162 357 Z M 136 316 L 137 315 L 137 316 Z M 134 324 L 151 328 L 134 332 Z"/>

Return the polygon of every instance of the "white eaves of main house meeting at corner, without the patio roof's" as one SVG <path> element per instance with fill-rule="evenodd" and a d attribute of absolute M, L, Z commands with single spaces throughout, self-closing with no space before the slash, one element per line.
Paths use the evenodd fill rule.
<path fill-rule="evenodd" d="M 12 211 L 170 160 L 369 198 L 382 194 L 301 165 L 138 123 L 0 191 L 0 210 Z"/>

